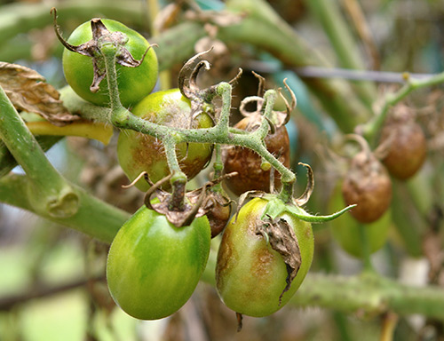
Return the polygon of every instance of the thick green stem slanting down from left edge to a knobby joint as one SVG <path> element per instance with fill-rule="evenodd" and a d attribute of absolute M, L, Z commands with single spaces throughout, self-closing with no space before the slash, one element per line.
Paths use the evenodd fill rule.
<path fill-rule="evenodd" d="M 35 137 L 0 87 L 0 139 L 29 178 L 28 194 L 36 210 L 55 217 L 75 213 L 78 197 L 52 167 Z"/>

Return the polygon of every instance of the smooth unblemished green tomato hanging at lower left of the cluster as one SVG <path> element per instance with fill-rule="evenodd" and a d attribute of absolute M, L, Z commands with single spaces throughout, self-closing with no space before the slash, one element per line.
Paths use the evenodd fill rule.
<path fill-rule="evenodd" d="M 140 320 L 175 313 L 199 282 L 210 254 L 210 224 L 195 218 L 176 227 L 155 210 L 140 208 L 119 230 L 107 258 L 115 303 Z"/>

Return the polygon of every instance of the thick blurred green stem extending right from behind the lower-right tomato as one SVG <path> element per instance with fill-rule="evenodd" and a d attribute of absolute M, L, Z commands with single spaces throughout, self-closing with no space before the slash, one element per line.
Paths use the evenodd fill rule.
<path fill-rule="evenodd" d="M 215 286 L 217 251 L 211 250 L 202 281 Z M 417 313 L 444 321 L 444 295 L 441 287 L 413 287 L 376 273 L 355 276 L 329 274 L 306 275 L 289 305 L 321 307 L 344 313 L 379 316 L 391 311 L 401 316 Z"/>

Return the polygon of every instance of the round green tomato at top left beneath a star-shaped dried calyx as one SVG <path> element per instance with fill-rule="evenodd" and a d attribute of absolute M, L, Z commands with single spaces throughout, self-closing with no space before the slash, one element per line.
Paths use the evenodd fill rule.
<path fill-rule="evenodd" d="M 104 19 L 102 22 L 110 32 L 119 31 L 128 36 L 128 43 L 124 47 L 131 52 L 134 59 L 139 60 L 143 57 L 149 47 L 147 39 L 118 21 Z M 91 23 L 87 21 L 75 28 L 67 39 L 67 43 L 80 45 L 90 41 L 91 38 Z M 100 83 L 99 91 L 90 91 L 93 77 L 92 59 L 90 57 L 65 49 L 62 63 L 67 83 L 77 95 L 98 106 L 109 104 L 106 79 Z M 147 52 L 143 63 L 139 67 L 123 67 L 116 64 L 115 68 L 120 99 L 124 107 L 131 107 L 153 91 L 158 75 L 157 57 L 154 49 Z"/>

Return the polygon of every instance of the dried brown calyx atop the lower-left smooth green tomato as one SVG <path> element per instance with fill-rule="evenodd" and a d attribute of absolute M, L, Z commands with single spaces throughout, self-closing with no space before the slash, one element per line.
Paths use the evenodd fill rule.
<path fill-rule="evenodd" d="M 153 184 L 151 181 L 149 181 L 147 173 L 144 172 L 140 174 L 135 181 L 139 180 L 139 178 L 143 176 L 151 185 L 151 187 L 147 190 L 147 194 L 145 194 L 144 199 L 145 205 L 148 209 L 155 210 L 156 212 L 163 214 L 174 226 L 183 227 L 190 225 L 194 218 L 199 218 L 206 215 L 208 212 L 213 210 L 216 205 L 220 205 L 221 207 L 225 208 L 231 204 L 232 201 L 230 199 L 223 194 L 219 194 L 217 191 L 210 191 L 210 188 L 218 185 L 224 178 L 229 178 L 234 175 L 234 173 L 223 175 L 190 192 L 185 192 L 185 187 L 183 191 L 182 187 L 175 190 L 174 187 L 176 183 L 173 183 L 172 194 L 164 191 L 161 188 L 164 183 L 170 181 L 171 175 Z M 178 198 L 175 197 L 175 194 L 177 193 L 180 193 L 179 195 L 183 195 L 180 203 L 178 203 Z M 158 201 L 152 200 L 152 196 L 154 194 Z M 231 212 L 231 210 L 229 210 L 229 212 Z M 228 220 L 228 218 L 229 214 L 227 215 L 226 220 Z M 221 222 L 220 224 L 223 223 Z M 211 234 L 213 233 L 211 232 Z"/>

